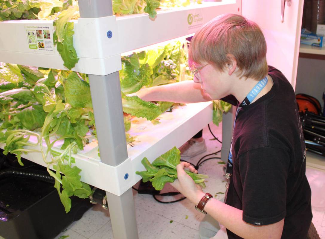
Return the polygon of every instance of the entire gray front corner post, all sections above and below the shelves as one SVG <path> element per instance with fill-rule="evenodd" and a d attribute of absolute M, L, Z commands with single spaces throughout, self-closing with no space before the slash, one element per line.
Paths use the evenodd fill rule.
<path fill-rule="evenodd" d="M 112 15 L 111 0 L 79 0 L 78 4 L 82 18 Z M 89 75 L 89 83 L 101 162 L 117 166 L 128 158 L 119 72 Z M 106 196 L 114 238 L 137 239 L 132 188 L 121 196 L 109 192 Z"/>

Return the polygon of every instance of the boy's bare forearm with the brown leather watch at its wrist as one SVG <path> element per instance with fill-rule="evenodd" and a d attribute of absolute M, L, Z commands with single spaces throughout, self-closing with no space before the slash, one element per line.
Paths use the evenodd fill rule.
<path fill-rule="evenodd" d="M 196 196 L 196 205 L 204 193 Z M 242 220 L 243 211 L 211 198 L 204 210 L 228 230 L 243 238 L 281 238 L 284 219 L 274 224 L 253 226 Z"/>

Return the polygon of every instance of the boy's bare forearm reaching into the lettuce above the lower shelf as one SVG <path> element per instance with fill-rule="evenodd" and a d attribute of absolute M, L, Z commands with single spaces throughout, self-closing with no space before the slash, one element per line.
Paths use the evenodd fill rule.
<path fill-rule="evenodd" d="M 211 100 L 209 95 L 202 91 L 200 85 L 193 81 L 143 88 L 136 95 L 146 101 L 195 103 Z"/>

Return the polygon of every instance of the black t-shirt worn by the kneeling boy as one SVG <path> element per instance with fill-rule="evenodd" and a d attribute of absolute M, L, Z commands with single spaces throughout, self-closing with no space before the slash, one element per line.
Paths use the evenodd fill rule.
<path fill-rule="evenodd" d="M 236 118 L 226 204 L 243 210 L 243 220 L 253 225 L 284 218 L 281 238 L 306 239 L 311 191 L 295 93 L 279 70 L 269 66 L 268 74 L 274 82 L 271 90 L 242 107 Z M 223 100 L 238 104 L 233 96 Z M 241 238 L 229 230 L 227 234 Z"/>

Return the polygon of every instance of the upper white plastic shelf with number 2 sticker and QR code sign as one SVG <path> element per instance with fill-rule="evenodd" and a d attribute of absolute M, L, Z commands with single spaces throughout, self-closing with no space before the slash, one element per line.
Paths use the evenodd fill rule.
<path fill-rule="evenodd" d="M 74 20 L 73 41 L 80 60 L 72 70 L 95 75 L 116 72 L 121 69 L 121 53 L 195 33 L 214 17 L 240 13 L 240 8 L 240 1 L 224 0 L 158 10 L 155 19 L 148 14 L 79 18 Z M 48 31 L 50 39 L 29 39 L 28 31 L 36 34 L 37 30 Z M 53 21 L 3 21 L 0 32 L 0 62 L 66 70 L 51 42 Z M 37 47 L 39 41 L 45 48 Z"/>

